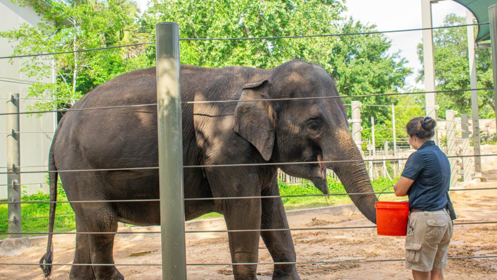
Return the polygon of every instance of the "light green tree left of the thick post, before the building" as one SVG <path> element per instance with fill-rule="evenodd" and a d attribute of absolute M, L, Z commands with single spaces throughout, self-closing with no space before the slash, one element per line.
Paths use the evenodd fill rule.
<path fill-rule="evenodd" d="M 131 0 L 16 2 L 32 6 L 42 16 L 42 22 L 35 26 L 21 24 L 16 29 L 0 32 L 0 37 L 13 44 L 14 55 L 77 51 L 151 39 L 150 33 L 142 30 L 138 21 L 139 9 Z M 93 87 L 118 74 L 150 64 L 145 56 L 138 56 L 144 51 L 145 47 L 138 46 L 37 56 L 23 59 L 21 71 L 38 80 L 55 71 L 55 83 L 33 84 L 28 95 L 63 99 L 34 105 L 38 110 L 51 110 L 56 104 L 60 108 L 68 100 L 73 104 Z M 52 60 L 55 66 L 52 66 Z"/>

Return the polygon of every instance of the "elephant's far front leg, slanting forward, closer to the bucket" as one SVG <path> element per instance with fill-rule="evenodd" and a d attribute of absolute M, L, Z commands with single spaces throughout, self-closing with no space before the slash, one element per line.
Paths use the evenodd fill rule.
<path fill-rule="evenodd" d="M 279 195 L 278 183 L 275 180 L 262 196 Z M 288 229 L 285 209 L 281 198 L 262 198 L 261 229 Z M 266 244 L 273 261 L 295 262 L 295 248 L 290 231 L 261 231 L 260 235 Z M 275 265 L 273 280 L 300 280 L 295 264 Z"/>

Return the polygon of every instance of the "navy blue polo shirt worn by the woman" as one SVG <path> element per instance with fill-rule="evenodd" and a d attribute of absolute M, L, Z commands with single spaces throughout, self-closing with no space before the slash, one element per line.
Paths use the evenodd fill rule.
<path fill-rule="evenodd" d="M 447 205 L 450 183 L 447 156 L 434 141 L 424 142 L 406 162 L 402 177 L 414 180 L 408 190 L 409 208 L 436 211 Z"/>

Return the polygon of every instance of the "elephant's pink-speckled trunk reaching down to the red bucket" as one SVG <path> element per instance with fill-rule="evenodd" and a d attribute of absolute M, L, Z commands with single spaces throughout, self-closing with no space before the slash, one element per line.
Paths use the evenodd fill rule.
<path fill-rule="evenodd" d="M 350 142 L 347 147 L 342 146 L 339 152 L 336 149 L 331 153 L 325 152 L 325 160 L 346 160 L 344 162 L 331 162 L 327 164 L 327 167 L 332 169 L 340 178 L 347 193 L 369 193 L 349 196 L 359 211 L 376 224 L 376 209 L 374 206 L 378 199 L 372 194 L 373 187 L 361 153 L 351 138 Z M 327 154 L 334 154 L 335 156 L 333 156 L 333 159 L 326 159 Z"/>

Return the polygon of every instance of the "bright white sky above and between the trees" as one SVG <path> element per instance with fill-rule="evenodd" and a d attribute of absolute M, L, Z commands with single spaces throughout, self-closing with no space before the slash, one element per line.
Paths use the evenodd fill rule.
<path fill-rule="evenodd" d="M 149 0 L 136 0 L 140 9 L 147 9 Z M 346 16 L 352 16 L 363 23 L 375 24 L 377 30 L 421 28 L 421 1 L 420 0 L 346 0 Z M 440 0 L 432 5 L 433 26 L 441 26 L 445 15 L 455 13 L 466 16 L 466 8 L 452 0 Z M 275 34 L 278 35 L 278 34 Z M 409 31 L 385 34 L 392 40 L 390 53 L 401 52 L 407 58 L 408 67 L 414 74 L 408 77 L 408 86 L 423 88 L 416 84 L 415 76 L 421 64 L 417 59 L 416 45 L 421 42 L 421 31 Z"/>

